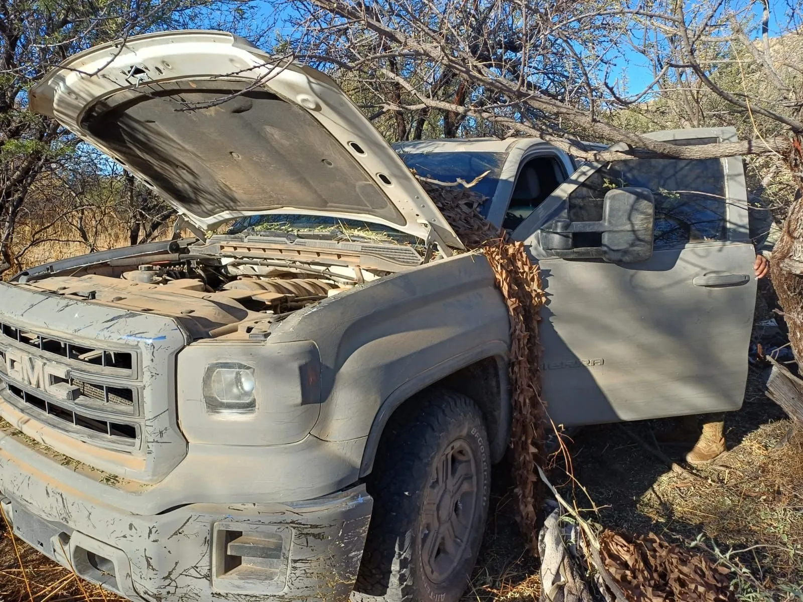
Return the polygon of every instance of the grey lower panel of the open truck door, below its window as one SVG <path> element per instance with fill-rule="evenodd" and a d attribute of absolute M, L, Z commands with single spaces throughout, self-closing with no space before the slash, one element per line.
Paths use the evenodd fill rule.
<path fill-rule="evenodd" d="M 658 250 L 631 266 L 547 259 L 544 399 L 565 425 L 739 409 L 756 281 L 752 245 Z M 738 286 L 700 287 L 711 275 Z"/>

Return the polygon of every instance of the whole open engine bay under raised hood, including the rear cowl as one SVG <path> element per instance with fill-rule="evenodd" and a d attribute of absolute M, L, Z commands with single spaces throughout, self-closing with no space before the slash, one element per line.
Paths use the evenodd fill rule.
<path fill-rule="evenodd" d="M 63 259 L 10 284 L 169 315 L 193 340 L 255 339 L 294 311 L 425 261 L 410 246 L 373 241 L 217 235 Z"/>

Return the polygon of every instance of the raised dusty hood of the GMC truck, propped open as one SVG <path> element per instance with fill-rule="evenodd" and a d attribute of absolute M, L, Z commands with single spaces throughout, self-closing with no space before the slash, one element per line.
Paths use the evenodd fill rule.
<path fill-rule="evenodd" d="M 463 247 L 332 79 L 233 35 L 170 31 L 94 47 L 30 98 L 206 230 L 245 215 L 311 214 Z"/>

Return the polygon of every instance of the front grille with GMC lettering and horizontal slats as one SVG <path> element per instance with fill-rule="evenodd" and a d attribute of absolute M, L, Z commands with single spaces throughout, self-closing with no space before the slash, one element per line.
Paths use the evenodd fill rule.
<path fill-rule="evenodd" d="M 0 386 L 6 385 L 6 401 L 37 421 L 108 449 L 141 447 L 137 362 L 137 352 L 87 347 L 0 323 Z"/>

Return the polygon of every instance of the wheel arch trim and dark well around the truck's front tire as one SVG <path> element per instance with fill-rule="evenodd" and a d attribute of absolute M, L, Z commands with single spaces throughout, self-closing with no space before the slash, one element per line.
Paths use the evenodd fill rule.
<path fill-rule="evenodd" d="M 462 393 L 479 406 L 490 439 L 491 462 L 499 462 L 511 428 L 508 351 L 506 342 L 492 341 L 433 366 L 390 393 L 377 411 L 365 441 L 360 476 L 365 477 L 373 470 L 379 442 L 393 413 L 418 393 L 436 387 Z"/>

